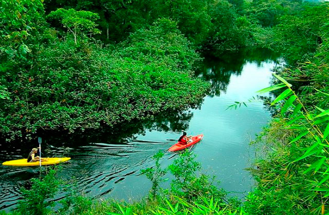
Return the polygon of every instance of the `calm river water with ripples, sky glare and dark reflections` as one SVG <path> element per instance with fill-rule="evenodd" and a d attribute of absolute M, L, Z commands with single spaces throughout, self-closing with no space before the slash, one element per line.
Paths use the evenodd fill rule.
<path fill-rule="evenodd" d="M 277 65 L 276 56 L 264 50 L 221 59 L 206 56 L 197 76 L 211 83 L 212 88 L 198 108 L 163 113 L 115 130 L 47 134 L 43 136 L 43 152 L 49 157 L 71 157 L 59 175 L 86 196 L 138 200 L 151 187 L 140 170 L 154 165 L 152 155 L 167 151 L 181 130 L 192 135 L 203 133 L 202 142 L 192 149 L 203 171 L 215 175 L 221 181 L 219 186 L 231 195 L 243 198 L 254 183 L 245 170 L 254 156 L 249 143 L 271 118 L 263 100 L 248 100 L 257 98 L 256 91 L 270 85 L 271 70 Z M 227 110 L 235 101 L 246 102 L 248 107 Z M 36 142 L 14 146 L 2 143 L 0 162 L 26 157 L 36 146 Z M 168 166 L 177 156 L 166 152 L 161 165 Z M 20 200 L 20 188 L 38 175 L 39 167 L 0 166 L 0 210 L 14 209 Z M 56 199 L 64 196 L 60 192 Z"/>

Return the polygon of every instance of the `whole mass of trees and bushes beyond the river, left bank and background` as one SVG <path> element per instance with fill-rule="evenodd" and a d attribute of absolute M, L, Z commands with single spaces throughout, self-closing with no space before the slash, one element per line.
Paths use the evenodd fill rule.
<path fill-rule="evenodd" d="M 327 12 L 325 4 L 285 0 L 1 4 L 0 133 L 7 140 L 187 107 L 207 88 L 193 79 L 195 49 L 222 55 L 263 46 L 296 61 L 324 41 Z M 301 31 L 290 32 L 296 23 Z M 302 46 L 294 44 L 300 35 Z"/>

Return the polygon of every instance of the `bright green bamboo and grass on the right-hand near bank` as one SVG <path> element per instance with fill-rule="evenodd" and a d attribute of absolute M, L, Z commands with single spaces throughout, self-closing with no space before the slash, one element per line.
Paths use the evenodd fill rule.
<path fill-rule="evenodd" d="M 282 83 L 259 92 L 286 88 L 271 103 L 281 106 L 280 118 L 265 128 L 267 157 L 253 170 L 259 184 L 245 207 L 255 214 L 324 214 L 329 197 L 329 110 L 303 104 L 291 85 L 275 76 Z"/>

